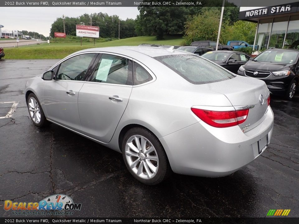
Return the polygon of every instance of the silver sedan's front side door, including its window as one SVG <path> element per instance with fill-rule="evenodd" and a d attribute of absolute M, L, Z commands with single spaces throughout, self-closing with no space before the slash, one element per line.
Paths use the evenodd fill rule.
<path fill-rule="evenodd" d="M 51 121 L 76 131 L 81 130 L 78 93 L 95 58 L 96 53 L 67 58 L 58 65 L 55 80 L 45 82 L 45 109 Z"/>

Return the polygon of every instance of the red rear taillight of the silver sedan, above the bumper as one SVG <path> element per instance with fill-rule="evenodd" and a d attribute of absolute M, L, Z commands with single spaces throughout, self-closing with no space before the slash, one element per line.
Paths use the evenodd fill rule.
<path fill-rule="evenodd" d="M 227 128 L 242 124 L 248 115 L 249 109 L 232 111 L 213 111 L 191 108 L 192 112 L 207 124 L 216 128 Z"/>

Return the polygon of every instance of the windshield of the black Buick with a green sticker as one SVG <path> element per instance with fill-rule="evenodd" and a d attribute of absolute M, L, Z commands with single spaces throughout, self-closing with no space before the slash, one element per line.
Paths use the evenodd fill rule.
<path fill-rule="evenodd" d="M 293 64 L 297 57 L 296 51 L 266 50 L 256 56 L 253 61 Z"/>

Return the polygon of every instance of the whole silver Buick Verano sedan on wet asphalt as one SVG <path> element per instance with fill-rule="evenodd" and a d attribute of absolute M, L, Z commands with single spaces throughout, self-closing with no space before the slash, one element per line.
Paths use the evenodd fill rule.
<path fill-rule="evenodd" d="M 154 47 L 78 51 L 26 82 L 30 117 L 121 152 L 140 182 L 171 171 L 221 177 L 268 146 L 266 84 L 195 54 Z"/>

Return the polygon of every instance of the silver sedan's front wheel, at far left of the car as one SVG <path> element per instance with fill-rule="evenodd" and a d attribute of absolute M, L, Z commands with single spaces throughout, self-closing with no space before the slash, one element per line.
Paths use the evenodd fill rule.
<path fill-rule="evenodd" d="M 30 118 L 37 127 L 43 127 L 48 124 L 48 121 L 45 118 L 44 111 L 40 106 L 35 94 L 30 93 L 27 98 L 27 107 L 29 111 Z"/>

